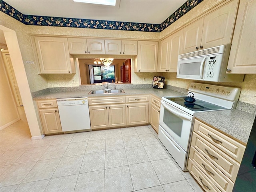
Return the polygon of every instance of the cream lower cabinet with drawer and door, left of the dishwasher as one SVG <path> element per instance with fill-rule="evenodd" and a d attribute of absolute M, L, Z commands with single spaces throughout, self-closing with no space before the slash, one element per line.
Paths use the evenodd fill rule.
<path fill-rule="evenodd" d="M 56 100 L 37 101 L 44 134 L 62 132 Z"/>

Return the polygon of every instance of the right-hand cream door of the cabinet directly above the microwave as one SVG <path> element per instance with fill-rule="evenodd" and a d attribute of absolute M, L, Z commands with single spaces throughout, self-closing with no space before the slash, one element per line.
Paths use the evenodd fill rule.
<path fill-rule="evenodd" d="M 231 43 L 238 2 L 230 1 L 204 17 L 201 41 L 204 49 Z"/>

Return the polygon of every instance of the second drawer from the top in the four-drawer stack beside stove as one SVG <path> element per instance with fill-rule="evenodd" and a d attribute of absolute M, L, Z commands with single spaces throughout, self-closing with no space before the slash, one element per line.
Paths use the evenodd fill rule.
<path fill-rule="evenodd" d="M 220 169 L 233 182 L 236 180 L 240 164 L 193 132 L 191 145 Z"/>

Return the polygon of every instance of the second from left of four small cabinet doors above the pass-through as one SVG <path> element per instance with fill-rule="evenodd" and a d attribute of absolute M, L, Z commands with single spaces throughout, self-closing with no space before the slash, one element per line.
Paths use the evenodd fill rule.
<path fill-rule="evenodd" d="M 104 39 L 87 39 L 88 54 L 105 54 Z"/>

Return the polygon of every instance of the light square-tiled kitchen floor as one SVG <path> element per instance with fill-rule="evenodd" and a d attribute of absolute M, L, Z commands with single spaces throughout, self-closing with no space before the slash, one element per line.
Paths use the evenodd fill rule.
<path fill-rule="evenodd" d="M 30 140 L 26 117 L 0 131 L 1 192 L 202 192 L 148 126 Z"/>

